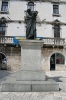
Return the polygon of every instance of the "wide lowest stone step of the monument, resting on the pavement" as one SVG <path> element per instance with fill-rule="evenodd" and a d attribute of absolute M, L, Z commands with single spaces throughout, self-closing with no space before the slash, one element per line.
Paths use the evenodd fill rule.
<path fill-rule="evenodd" d="M 55 81 L 16 81 L 6 80 L 2 83 L 1 92 L 49 92 L 59 91 L 59 84 Z"/>

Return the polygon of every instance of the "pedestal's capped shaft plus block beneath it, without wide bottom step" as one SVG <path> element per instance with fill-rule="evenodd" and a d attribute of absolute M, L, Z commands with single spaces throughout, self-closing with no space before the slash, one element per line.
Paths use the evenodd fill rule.
<path fill-rule="evenodd" d="M 21 45 L 21 68 L 17 80 L 45 80 L 45 72 L 41 71 L 41 47 L 43 41 L 24 40 Z"/>

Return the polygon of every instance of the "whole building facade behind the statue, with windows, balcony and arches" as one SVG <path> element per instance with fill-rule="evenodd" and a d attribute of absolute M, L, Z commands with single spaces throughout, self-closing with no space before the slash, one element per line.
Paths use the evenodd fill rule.
<path fill-rule="evenodd" d="M 19 70 L 21 47 L 14 37 L 26 38 L 26 10 L 38 11 L 36 38 L 44 41 L 42 70 L 66 70 L 66 0 L 0 1 L 0 69 Z"/>

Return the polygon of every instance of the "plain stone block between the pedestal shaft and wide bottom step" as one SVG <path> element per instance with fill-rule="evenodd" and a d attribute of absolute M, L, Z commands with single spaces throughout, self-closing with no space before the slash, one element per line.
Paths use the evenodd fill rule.
<path fill-rule="evenodd" d="M 17 81 L 44 81 L 44 71 L 19 71 L 16 75 Z"/>

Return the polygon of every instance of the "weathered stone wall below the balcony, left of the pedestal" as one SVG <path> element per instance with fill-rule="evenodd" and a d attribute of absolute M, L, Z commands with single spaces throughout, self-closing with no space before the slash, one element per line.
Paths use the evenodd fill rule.
<path fill-rule="evenodd" d="M 7 70 L 18 71 L 21 65 L 21 48 L 7 47 Z"/>

